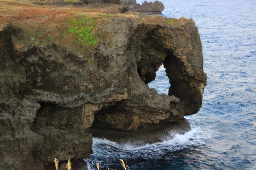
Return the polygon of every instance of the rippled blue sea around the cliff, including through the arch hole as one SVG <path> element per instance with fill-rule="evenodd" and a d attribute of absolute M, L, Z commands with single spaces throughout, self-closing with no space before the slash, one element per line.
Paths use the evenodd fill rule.
<path fill-rule="evenodd" d="M 198 27 L 208 76 L 202 108 L 186 117 L 190 132 L 162 143 L 136 148 L 94 138 L 88 168 L 119 170 L 122 158 L 131 170 L 256 169 L 256 1 L 161 2 L 163 16 L 193 18 Z M 149 86 L 168 93 L 162 66 Z"/>

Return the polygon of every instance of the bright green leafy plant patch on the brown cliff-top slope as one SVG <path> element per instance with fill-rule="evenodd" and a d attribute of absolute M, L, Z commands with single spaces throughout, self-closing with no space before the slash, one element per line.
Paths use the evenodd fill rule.
<path fill-rule="evenodd" d="M 88 26 L 87 26 L 88 25 Z M 77 34 L 78 42 L 83 45 L 96 45 L 98 37 L 90 33 L 96 25 L 95 17 L 87 17 L 82 20 L 73 20 L 68 32 Z M 87 27 L 86 27 L 87 26 Z"/>

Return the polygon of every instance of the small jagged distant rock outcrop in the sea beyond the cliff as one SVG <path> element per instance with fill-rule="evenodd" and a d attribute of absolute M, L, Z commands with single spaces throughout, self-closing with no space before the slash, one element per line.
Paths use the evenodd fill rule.
<path fill-rule="evenodd" d="M 137 3 L 136 6 L 132 6 L 129 8 L 130 11 L 134 12 L 143 12 L 143 13 L 149 13 L 149 14 L 162 14 L 162 10 L 164 10 L 163 3 L 160 1 L 153 2 L 147 2 L 144 1 L 141 5 Z"/>

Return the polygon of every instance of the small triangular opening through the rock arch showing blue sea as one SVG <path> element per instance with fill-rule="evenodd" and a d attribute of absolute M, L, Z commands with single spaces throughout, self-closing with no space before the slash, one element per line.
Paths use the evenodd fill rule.
<path fill-rule="evenodd" d="M 161 65 L 156 72 L 155 80 L 148 83 L 148 87 L 150 89 L 154 88 L 156 89 L 158 94 L 167 94 L 170 88 L 170 80 L 168 76 L 166 75 L 165 68 L 163 65 Z"/>

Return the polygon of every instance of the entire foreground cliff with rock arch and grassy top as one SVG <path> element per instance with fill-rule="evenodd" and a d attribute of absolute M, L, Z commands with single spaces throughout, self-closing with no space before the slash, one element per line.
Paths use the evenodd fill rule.
<path fill-rule="evenodd" d="M 50 170 L 68 156 L 86 169 L 93 135 L 153 143 L 190 129 L 207 80 L 193 19 L 35 2 L 46 3 L 0 1 L 2 169 Z M 168 95 L 147 85 L 162 64 Z"/>

